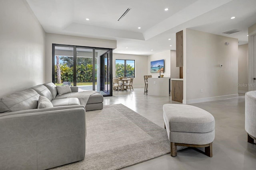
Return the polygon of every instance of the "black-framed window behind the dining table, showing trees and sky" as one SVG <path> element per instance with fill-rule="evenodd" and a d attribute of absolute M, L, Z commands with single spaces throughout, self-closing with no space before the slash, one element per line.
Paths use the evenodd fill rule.
<path fill-rule="evenodd" d="M 116 59 L 116 77 L 135 77 L 135 60 Z"/>

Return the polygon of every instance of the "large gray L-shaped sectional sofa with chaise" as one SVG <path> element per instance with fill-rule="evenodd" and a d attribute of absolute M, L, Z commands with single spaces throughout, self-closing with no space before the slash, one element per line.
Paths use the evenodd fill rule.
<path fill-rule="evenodd" d="M 46 83 L 0 98 L 1 170 L 44 170 L 84 159 L 85 111 L 102 109 L 103 96 L 71 90 L 58 95 Z M 37 109 L 39 96 L 54 107 Z"/>

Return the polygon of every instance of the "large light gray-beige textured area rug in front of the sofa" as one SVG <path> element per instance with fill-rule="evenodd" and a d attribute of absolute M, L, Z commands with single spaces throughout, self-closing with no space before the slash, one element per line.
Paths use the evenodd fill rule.
<path fill-rule="evenodd" d="M 170 142 L 164 128 L 115 104 L 86 112 L 85 159 L 54 169 L 118 170 L 168 153 Z"/>

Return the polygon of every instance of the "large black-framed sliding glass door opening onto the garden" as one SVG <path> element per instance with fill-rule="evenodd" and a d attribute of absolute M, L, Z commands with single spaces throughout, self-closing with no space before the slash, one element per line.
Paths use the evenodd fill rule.
<path fill-rule="evenodd" d="M 57 44 L 52 49 L 52 82 L 112 96 L 112 49 Z"/>

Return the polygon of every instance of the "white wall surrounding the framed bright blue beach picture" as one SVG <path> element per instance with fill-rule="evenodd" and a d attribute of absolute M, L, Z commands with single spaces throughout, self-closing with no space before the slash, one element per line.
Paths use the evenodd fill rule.
<path fill-rule="evenodd" d="M 157 60 L 162 60 L 164 59 L 164 77 L 170 77 L 170 70 L 171 70 L 171 52 L 170 50 L 168 51 L 163 51 L 160 53 L 156 53 L 153 55 L 149 55 L 148 56 L 148 75 L 152 75 L 152 77 L 158 77 L 160 74 L 158 73 L 154 73 L 154 72 L 150 72 L 150 62 L 151 61 L 157 61 Z M 175 62 L 176 63 L 176 62 Z M 163 73 L 161 73 L 163 74 Z"/>

